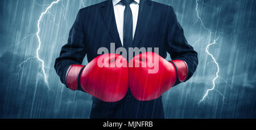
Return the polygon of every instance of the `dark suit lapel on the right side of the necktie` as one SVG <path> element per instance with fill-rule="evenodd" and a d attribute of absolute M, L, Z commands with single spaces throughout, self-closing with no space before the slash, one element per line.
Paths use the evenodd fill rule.
<path fill-rule="evenodd" d="M 137 27 L 134 34 L 134 40 L 133 40 L 133 47 L 139 47 L 141 44 L 141 40 L 144 36 L 144 33 L 146 32 L 148 22 L 148 18 L 151 14 L 151 1 L 148 0 L 141 0 L 139 3 L 139 14 L 138 14 L 138 21 L 137 21 Z"/>

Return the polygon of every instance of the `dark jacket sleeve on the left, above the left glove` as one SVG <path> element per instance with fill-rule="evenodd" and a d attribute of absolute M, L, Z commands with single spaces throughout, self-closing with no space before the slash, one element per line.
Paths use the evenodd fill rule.
<path fill-rule="evenodd" d="M 68 68 L 73 64 L 82 64 L 82 60 L 86 55 L 85 36 L 82 27 L 81 10 L 76 16 L 68 37 L 68 43 L 65 44 L 60 51 L 60 56 L 55 60 L 55 70 L 60 76 L 61 83 L 65 83 L 65 75 Z"/>

